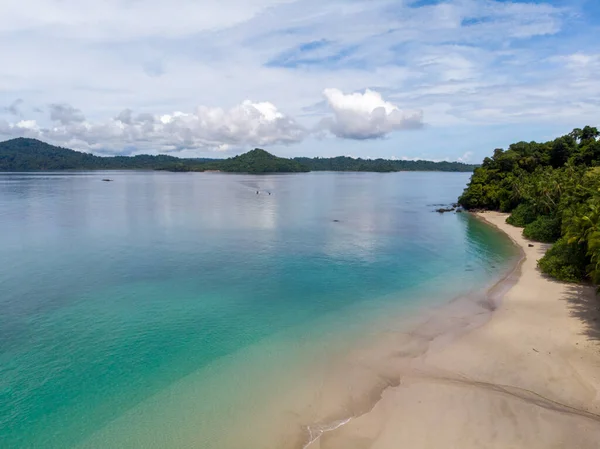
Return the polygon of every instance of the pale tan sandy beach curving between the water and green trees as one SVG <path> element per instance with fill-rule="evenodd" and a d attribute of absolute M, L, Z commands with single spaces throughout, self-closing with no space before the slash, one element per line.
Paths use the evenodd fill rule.
<path fill-rule="evenodd" d="M 450 339 L 421 328 L 425 350 L 398 351 L 389 367 L 396 380 L 375 405 L 311 449 L 600 447 L 594 289 L 545 278 L 537 260 L 547 245 L 529 246 L 506 214 L 479 216 L 522 249 L 514 285 L 483 325 L 459 326 Z"/>

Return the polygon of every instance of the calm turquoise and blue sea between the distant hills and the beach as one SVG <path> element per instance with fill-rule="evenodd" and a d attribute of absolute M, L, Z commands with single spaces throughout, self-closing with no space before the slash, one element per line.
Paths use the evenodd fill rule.
<path fill-rule="evenodd" d="M 509 263 L 432 212 L 468 177 L 0 174 L 0 447 L 234 447 L 307 361 Z"/>

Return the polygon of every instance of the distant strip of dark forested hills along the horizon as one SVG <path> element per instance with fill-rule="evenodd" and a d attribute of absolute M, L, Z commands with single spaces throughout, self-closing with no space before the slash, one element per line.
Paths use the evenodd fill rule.
<path fill-rule="evenodd" d="M 168 155 L 96 156 L 19 137 L 0 142 L 0 171 L 40 170 L 167 170 L 173 172 L 221 171 L 227 173 L 296 173 L 309 171 L 445 171 L 472 172 L 477 165 L 461 162 L 296 157 L 286 159 L 265 150 L 228 159 L 178 158 Z"/>

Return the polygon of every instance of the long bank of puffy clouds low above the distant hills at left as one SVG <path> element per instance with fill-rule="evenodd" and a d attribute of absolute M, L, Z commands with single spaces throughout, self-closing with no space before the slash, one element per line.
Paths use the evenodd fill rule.
<path fill-rule="evenodd" d="M 116 117 L 88 121 L 68 104 L 50 105 L 54 126 L 42 127 L 34 120 L 0 124 L 0 134 L 35 137 L 77 149 L 120 153 L 169 152 L 183 149 L 224 151 L 251 146 L 290 144 L 307 132 L 268 102 L 249 100 L 229 109 L 200 106 L 193 112 L 134 114 L 125 109 Z"/>

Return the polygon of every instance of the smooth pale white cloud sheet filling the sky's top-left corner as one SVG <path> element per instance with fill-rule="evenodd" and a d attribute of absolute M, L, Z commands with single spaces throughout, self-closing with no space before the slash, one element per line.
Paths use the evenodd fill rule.
<path fill-rule="evenodd" d="M 289 0 L 288 0 L 289 1 Z M 3 0 L 0 31 L 120 41 L 177 37 L 245 22 L 286 0 Z"/>

